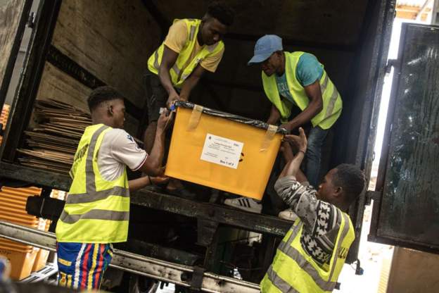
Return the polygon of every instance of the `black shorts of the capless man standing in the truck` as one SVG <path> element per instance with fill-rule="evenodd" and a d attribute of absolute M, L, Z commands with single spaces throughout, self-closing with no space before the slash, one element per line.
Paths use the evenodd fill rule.
<path fill-rule="evenodd" d="M 158 75 L 146 70 L 144 84 L 148 89 L 146 94 L 146 105 L 148 106 L 148 124 L 155 122 L 160 117 L 160 108 L 166 107 L 167 92 L 160 82 Z"/>

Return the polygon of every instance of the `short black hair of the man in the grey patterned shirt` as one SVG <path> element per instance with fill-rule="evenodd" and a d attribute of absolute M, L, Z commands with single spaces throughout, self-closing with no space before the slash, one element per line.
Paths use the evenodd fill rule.
<path fill-rule="evenodd" d="M 332 183 L 343 188 L 345 202 L 352 204 L 360 196 L 366 185 L 364 173 L 360 168 L 352 164 L 341 164 L 336 167 L 337 172 L 333 175 Z"/>

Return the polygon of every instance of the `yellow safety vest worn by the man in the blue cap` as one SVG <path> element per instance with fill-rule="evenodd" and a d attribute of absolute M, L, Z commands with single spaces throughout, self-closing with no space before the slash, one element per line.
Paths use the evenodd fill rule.
<path fill-rule="evenodd" d="M 297 78 L 295 77 L 295 72 L 298 66 L 299 58 L 302 56 L 302 54 L 304 54 L 304 52 L 284 53 L 286 59 L 286 83 L 288 84 L 288 88 L 290 89 L 290 93 L 291 96 L 293 96 L 295 104 L 297 104 L 300 110 L 303 111 L 305 108 L 307 108 L 308 104 L 310 104 L 310 99 L 305 93 L 303 86 L 300 85 L 300 82 L 298 82 Z M 274 77 L 274 75 L 267 76 L 264 71 L 262 71 L 262 85 L 264 85 L 264 91 L 268 99 L 281 113 L 281 123 L 288 122 L 293 103 L 288 101 L 288 99 L 281 99 L 279 96 L 279 91 L 277 90 L 276 85 L 276 77 Z M 314 127 L 318 125 L 323 129 L 328 129 L 334 123 L 336 123 L 336 120 L 340 116 L 343 102 L 341 101 L 341 96 L 338 93 L 336 86 L 333 85 L 325 70 L 323 70 L 323 75 L 320 78 L 320 89 L 322 91 L 323 109 L 311 119 L 311 123 Z"/>

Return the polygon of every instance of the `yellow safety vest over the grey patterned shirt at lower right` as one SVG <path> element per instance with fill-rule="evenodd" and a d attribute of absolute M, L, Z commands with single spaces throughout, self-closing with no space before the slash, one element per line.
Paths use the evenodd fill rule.
<path fill-rule="evenodd" d="M 262 279 L 262 293 L 332 292 L 336 287 L 350 244 L 355 239 L 354 227 L 348 214 L 342 215 L 340 230 L 329 264 L 319 266 L 300 244 L 303 223 L 299 219 L 286 233 L 276 256 Z"/>

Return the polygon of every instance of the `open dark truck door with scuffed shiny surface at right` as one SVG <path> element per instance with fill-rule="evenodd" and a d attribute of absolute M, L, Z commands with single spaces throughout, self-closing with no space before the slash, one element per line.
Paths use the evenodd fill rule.
<path fill-rule="evenodd" d="M 369 240 L 439 252 L 439 27 L 405 23 Z"/>

